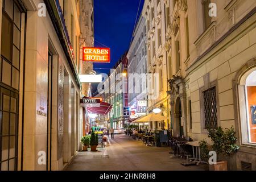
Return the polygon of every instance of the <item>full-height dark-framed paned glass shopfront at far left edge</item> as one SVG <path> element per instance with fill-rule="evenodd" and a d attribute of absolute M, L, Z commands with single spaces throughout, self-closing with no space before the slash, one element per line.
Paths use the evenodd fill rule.
<path fill-rule="evenodd" d="M 0 60 L 0 170 L 17 169 L 20 32 L 22 11 L 14 0 L 2 3 Z"/>

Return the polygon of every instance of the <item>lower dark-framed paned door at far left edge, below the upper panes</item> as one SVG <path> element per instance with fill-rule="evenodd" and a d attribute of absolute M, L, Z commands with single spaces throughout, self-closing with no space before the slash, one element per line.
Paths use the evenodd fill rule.
<path fill-rule="evenodd" d="M 0 86 L 0 171 L 17 169 L 18 94 Z"/>

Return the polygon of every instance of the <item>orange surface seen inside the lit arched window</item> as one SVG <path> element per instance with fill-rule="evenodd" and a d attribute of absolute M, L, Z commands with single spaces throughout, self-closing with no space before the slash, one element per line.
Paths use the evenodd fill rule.
<path fill-rule="evenodd" d="M 249 109 L 249 120 L 250 120 L 250 133 L 251 142 L 256 143 L 256 125 L 253 125 L 251 121 L 251 106 L 256 106 L 256 86 L 247 86 L 247 98 L 248 98 L 248 109 Z"/>

